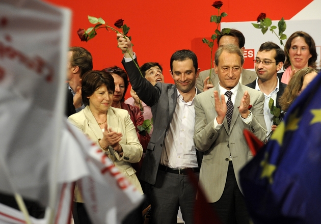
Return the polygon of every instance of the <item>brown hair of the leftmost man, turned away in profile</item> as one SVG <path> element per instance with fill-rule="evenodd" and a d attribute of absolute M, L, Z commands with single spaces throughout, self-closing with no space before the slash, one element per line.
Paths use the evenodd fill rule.
<path fill-rule="evenodd" d="M 93 69 L 93 58 L 88 50 L 84 47 L 69 47 L 69 51 L 72 51 L 70 64 L 71 66 L 79 67 L 81 71 L 80 77 Z"/>

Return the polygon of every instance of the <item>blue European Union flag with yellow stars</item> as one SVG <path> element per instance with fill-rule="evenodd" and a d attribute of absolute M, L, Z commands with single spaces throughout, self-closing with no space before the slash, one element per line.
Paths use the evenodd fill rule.
<path fill-rule="evenodd" d="M 240 171 L 254 223 L 321 223 L 321 74 Z"/>

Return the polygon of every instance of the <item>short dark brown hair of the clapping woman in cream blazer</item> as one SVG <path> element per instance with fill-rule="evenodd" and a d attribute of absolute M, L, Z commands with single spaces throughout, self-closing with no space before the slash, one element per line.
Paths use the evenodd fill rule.
<path fill-rule="evenodd" d="M 105 85 L 108 91 L 115 92 L 115 81 L 110 73 L 90 70 L 83 75 L 82 98 L 85 105 L 89 105 L 89 99 L 87 97 L 93 95 L 102 85 Z"/>

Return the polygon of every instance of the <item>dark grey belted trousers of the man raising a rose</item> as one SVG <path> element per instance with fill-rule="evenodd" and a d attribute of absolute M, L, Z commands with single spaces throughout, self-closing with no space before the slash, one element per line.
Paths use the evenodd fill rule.
<path fill-rule="evenodd" d="M 199 173 L 195 173 L 199 178 Z M 157 172 L 156 183 L 151 186 L 153 224 L 176 224 L 180 207 L 185 224 L 194 223 L 196 189 L 188 175 Z"/>

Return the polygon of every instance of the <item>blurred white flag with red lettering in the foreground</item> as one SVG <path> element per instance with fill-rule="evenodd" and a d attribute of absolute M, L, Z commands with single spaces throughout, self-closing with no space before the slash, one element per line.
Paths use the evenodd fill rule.
<path fill-rule="evenodd" d="M 70 21 L 70 10 L 37 0 L 0 1 L 0 192 L 36 200 L 67 223 L 81 179 L 93 223 L 120 223 L 142 195 L 64 118 Z M 25 222 L 0 204 L 0 223 Z"/>

